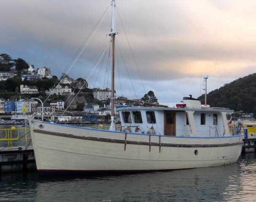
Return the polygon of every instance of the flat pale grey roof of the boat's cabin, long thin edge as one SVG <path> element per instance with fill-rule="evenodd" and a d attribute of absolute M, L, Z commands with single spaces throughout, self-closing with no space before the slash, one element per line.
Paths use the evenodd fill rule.
<path fill-rule="evenodd" d="M 145 106 L 130 106 L 130 107 L 121 107 L 116 108 L 116 111 L 126 111 L 126 110 L 148 110 L 148 111 L 199 111 L 199 112 L 234 112 L 234 110 L 226 108 L 181 108 L 181 107 L 145 107 Z"/>

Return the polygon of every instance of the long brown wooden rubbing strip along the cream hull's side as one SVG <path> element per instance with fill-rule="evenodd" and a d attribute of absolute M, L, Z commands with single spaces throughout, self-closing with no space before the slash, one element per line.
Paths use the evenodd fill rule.
<path fill-rule="evenodd" d="M 125 141 L 125 140 L 114 140 L 114 139 L 107 139 L 107 138 L 93 138 L 93 137 L 85 137 L 85 136 L 74 136 L 70 134 L 64 134 L 64 133 L 55 133 L 51 131 L 45 131 L 45 130 L 38 130 L 34 129 L 34 133 L 42 133 L 46 135 L 52 135 L 52 136 L 60 136 L 60 137 L 66 137 L 66 138 L 75 138 L 75 139 L 82 139 L 82 140 L 90 140 L 90 141 L 100 141 L 100 142 L 110 142 L 110 143 L 119 143 L 119 144 L 135 144 L 135 145 L 151 145 L 151 146 L 159 146 L 159 143 L 154 142 L 137 142 L 137 141 Z M 161 146 L 170 146 L 170 147 L 222 147 L 222 146 L 235 146 L 235 145 L 242 145 L 243 142 L 237 142 L 232 144 L 214 144 L 214 145 L 207 145 L 207 144 L 166 144 L 161 143 Z"/>

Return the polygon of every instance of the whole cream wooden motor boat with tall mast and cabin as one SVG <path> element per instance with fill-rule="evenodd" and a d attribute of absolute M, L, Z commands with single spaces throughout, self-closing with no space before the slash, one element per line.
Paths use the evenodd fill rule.
<path fill-rule="evenodd" d="M 229 109 L 210 108 L 192 96 L 176 107 L 146 103 L 121 107 L 114 125 L 115 0 L 112 0 L 110 130 L 29 120 L 39 172 L 160 171 L 226 165 L 242 150 L 241 134 L 229 134 Z M 153 107 L 154 106 L 154 107 Z"/>

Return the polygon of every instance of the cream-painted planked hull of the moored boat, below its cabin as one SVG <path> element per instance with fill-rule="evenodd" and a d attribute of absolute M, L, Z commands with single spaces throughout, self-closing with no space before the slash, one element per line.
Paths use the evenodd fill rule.
<path fill-rule="evenodd" d="M 37 170 L 41 172 L 156 171 L 208 167 L 233 163 L 242 150 L 240 136 L 159 137 L 39 121 L 30 121 L 30 129 Z"/>

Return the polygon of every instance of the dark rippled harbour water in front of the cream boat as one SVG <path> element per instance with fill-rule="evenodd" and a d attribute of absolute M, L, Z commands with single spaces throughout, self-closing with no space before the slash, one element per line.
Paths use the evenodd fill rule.
<path fill-rule="evenodd" d="M 0 201 L 255 201 L 256 154 L 231 165 L 170 172 L 87 176 L 0 175 Z"/>

